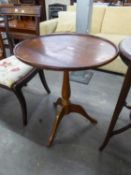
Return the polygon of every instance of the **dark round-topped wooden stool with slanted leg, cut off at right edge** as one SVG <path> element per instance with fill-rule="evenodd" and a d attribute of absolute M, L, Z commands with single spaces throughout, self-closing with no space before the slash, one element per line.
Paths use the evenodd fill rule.
<path fill-rule="evenodd" d="M 131 87 L 131 48 L 130 46 L 131 46 L 131 37 L 124 39 L 119 44 L 120 56 L 123 62 L 127 65 L 128 69 L 127 69 L 127 73 L 125 74 L 125 79 L 120 91 L 120 95 L 108 128 L 105 140 L 100 147 L 100 151 L 102 151 L 106 147 L 106 145 L 108 144 L 112 136 L 120 134 L 126 131 L 127 129 L 131 128 L 131 121 L 130 121 L 129 124 L 127 124 L 126 126 L 119 129 L 114 129 L 123 107 L 126 107 L 127 109 L 131 109 L 131 106 L 129 106 L 126 102 L 126 98 Z M 130 120 L 131 120 L 131 113 L 130 113 Z"/>

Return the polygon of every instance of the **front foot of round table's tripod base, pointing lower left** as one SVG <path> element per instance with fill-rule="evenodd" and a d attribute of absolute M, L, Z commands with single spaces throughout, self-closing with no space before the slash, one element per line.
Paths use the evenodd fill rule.
<path fill-rule="evenodd" d="M 65 108 L 63 107 L 61 109 L 61 111 L 58 112 L 57 115 L 56 115 L 56 118 L 55 118 L 54 123 L 53 123 L 53 127 L 52 127 L 52 130 L 51 130 L 51 135 L 49 137 L 47 146 L 52 145 L 53 140 L 54 140 L 55 135 L 56 135 L 56 132 L 57 132 L 57 129 L 58 129 L 58 126 L 59 126 L 60 121 L 62 120 L 64 114 L 65 114 Z"/>

